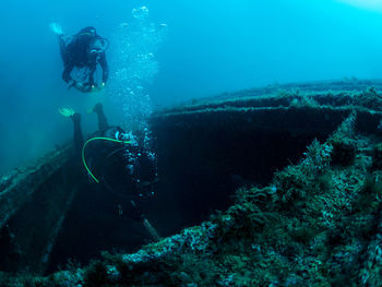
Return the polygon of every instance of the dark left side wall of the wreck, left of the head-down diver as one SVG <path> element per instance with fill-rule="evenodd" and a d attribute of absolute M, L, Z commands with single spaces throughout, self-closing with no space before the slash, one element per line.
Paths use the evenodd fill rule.
<path fill-rule="evenodd" d="M 72 178 L 65 168 L 72 148 L 63 146 L 2 177 L 0 228 L 2 271 L 41 272 L 70 207 Z"/>

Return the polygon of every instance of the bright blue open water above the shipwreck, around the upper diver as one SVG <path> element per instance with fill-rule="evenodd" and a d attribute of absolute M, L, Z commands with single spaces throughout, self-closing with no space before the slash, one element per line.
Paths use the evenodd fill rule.
<path fill-rule="evenodd" d="M 131 11 L 142 5 L 148 8 L 148 17 L 136 24 Z M 127 69 L 139 80 L 114 77 L 98 94 L 68 91 L 51 22 L 68 34 L 94 25 L 111 40 L 111 73 L 121 69 L 117 44 L 128 36 L 131 57 L 123 64 L 134 64 Z M 130 34 L 121 34 L 121 23 L 130 25 Z M 163 34 L 129 38 L 162 23 L 167 25 Z M 97 101 L 104 103 L 111 123 L 128 124 L 138 107 L 146 115 L 227 91 L 345 76 L 380 79 L 381 31 L 381 9 L 346 0 L 3 1 L 0 174 L 70 140 L 71 122 L 57 111 L 62 106 L 81 112 L 84 130 L 94 131 L 95 117 L 86 110 Z M 152 51 L 153 58 L 138 61 L 140 49 Z M 120 95 L 121 86 L 133 94 Z"/>

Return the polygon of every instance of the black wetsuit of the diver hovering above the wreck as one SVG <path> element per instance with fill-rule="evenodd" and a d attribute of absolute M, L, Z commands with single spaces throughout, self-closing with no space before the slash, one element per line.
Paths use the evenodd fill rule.
<path fill-rule="evenodd" d="M 63 72 L 62 80 L 67 83 L 70 83 L 73 79 L 71 77 L 71 72 L 74 67 L 82 69 L 87 68 L 87 82 L 83 83 L 88 88 L 94 85 L 94 73 L 99 63 L 103 69 L 103 83 L 106 83 L 108 80 L 108 64 L 106 61 L 105 50 L 96 50 L 93 48 L 94 43 L 97 40 L 105 40 L 99 37 L 93 31 L 93 27 L 86 27 L 80 31 L 79 34 L 72 36 L 68 41 L 65 41 L 62 35 L 59 36 L 60 41 L 60 51 L 61 58 L 63 61 Z M 95 29 L 94 29 L 95 31 Z"/>

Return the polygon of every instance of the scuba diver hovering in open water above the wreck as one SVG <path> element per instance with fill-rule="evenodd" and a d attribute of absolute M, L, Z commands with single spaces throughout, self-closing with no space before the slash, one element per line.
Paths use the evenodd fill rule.
<path fill-rule="evenodd" d="M 108 80 L 108 64 L 106 50 L 109 41 L 100 37 L 95 27 L 88 26 L 77 34 L 67 38 L 57 23 L 51 24 L 51 29 L 57 34 L 60 45 L 61 58 L 63 61 L 62 80 L 83 93 L 102 89 Z M 94 81 L 97 65 L 103 70 L 102 82 Z M 74 68 L 80 70 L 80 75 L 72 77 Z"/>

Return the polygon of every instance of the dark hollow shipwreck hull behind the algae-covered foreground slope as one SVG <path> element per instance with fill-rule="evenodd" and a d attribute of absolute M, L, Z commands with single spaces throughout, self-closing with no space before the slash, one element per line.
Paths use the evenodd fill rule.
<path fill-rule="evenodd" d="M 307 145 L 326 141 L 355 111 L 357 133 L 379 134 L 382 113 L 367 105 L 378 105 L 368 98 L 381 88 L 380 82 L 294 84 L 157 111 L 150 122 L 159 182 L 144 206 L 147 218 L 162 236 L 206 220 L 232 204 L 238 188 L 265 187 L 275 171 L 298 164 Z M 70 145 L 4 176 L 0 187 L 0 271 L 44 274 L 68 259 L 87 263 L 99 251 L 133 252 L 150 241 L 114 207 L 103 214 L 110 194 L 94 195 Z M 85 226 L 93 228 L 79 235 Z"/>

